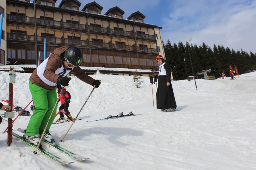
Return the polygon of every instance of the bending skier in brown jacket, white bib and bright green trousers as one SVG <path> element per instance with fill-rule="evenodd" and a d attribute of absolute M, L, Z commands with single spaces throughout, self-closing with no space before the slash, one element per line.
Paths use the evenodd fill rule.
<path fill-rule="evenodd" d="M 54 106 L 57 101 L 55 87 L 57 84 L 68 86 L 72 72 L 83 82 L 96 88 L 100 86 L 100 81 L 89 77 L 79 65 L 82 62 L 82 52 L 77 47 L 56 48 L 46 60 L 41 63 L 31 74 L 29 78 L 29 89 L 35 104 L 33 115 L 31 116 L 26 134 L 24 137 L 34 145 L 38 145 L 40 135 L 44 132 L 43 139 L 55 143 L 49 129 L 54 121 L 57 107 Z M 53 111 L 54 109 L 54 111 Z M 53 112 L 53 114 L 52 114 Z M 46 124 L 51 117 L 47 127 Z"/>

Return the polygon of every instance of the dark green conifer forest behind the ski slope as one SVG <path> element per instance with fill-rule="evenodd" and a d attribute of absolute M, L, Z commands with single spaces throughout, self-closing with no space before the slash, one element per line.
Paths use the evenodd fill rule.
<path fill-rule="evenodd" d="M 166 62 L 170 64 L 173 80 L 184 80 L 188 76 L 193 76 L 192 67 L 196 79 L 204 77 L 203 70 L 211 69 L 211 72 L 207 73 L 209 76 L 215 78 L 222 77 L 222 72 L 229 77 L 230 65 L 234 70 L 234 66 L 237 66 L 238 73 L 242 74 L 248 70 L 256 70 L 256 52 L 246 52 L 242 49 L 239 51 L 231 50 L 228 47 L 222 45 L 213 45 L 213 49 L 206 45 L 204 42 L 202 45 L 197 46 L 193 44 L 171 44 L 169 40 L 167 43 L 163 43 Z M 189 56 L 190 54 L 190 56 Z M 191 62 L 192 67 L 191 67 Z M 236 74 L 236 73 L 234 73 Z"/>

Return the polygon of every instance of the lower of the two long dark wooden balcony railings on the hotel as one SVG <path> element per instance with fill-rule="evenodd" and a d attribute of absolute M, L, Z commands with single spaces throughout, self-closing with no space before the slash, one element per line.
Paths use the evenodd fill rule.
<path fill-rule="evenodd" d="M 11 40 L 22 40 L 22 41 L 30 41 L 30 42 L 35 41 L 35 36 L 34 35 L 15 34 L 15 33 L 6 33 L 6 35 L 7 35 L 7 39 L 11 39 Z M 37 36 L 37 42 L 44 43 L 45 38 L 46 38 L 47 43 L 65 44 L 65 45 L 79 45 L 79 46 L 87 46 L 87 47 L 89 46 L 89 41 L 87 41 L 87 40 L 45 37 L 45 36 Z M 95 42 L 95 41 L 90 41 L 90 46 L 91 47 L 97 47 L 97 48 L 137 51 L 136 46 L 111 44 L 111 43 L 101 43 L 101 42 Z M 149 52 L 149 53 L 158 53 L 157 49 L 145 48 L 145 47 L 138 47 L 138 51 L 140 51 L 140 52 Z"/>

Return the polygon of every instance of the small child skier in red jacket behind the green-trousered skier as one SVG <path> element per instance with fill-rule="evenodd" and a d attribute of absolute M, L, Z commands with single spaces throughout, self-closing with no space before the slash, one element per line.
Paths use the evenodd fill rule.
<path fill-rule="evenodd" d="M 60 99 L 60 103 L 61 103 L 61 105 L 60 105 L 60 107 L 59 107 L 59 111 L 60 111 L 60 110 L 63 110 L 63 111 L 66 113 L 66 115 L 68 115 L 68 117 L 65 119 L 63 113 L 60 112 L 60 113 L 59 113 L 60 118 L 59 118 L 57 121 L 62 121 L 62 120 L 69 121 L 70 118 L 73 119 L 72 116 L 71 116 L 71 114 L 69 113 L 69 110 L 68 110 L 71 96 L 70 96 L 70 93 L 67 91 L 66 88 L 63 88 L 62 92 L 61 92 L 61 88 L 62 88 L 62 87 L 61 87 L 60 84 L 58 84 L 58 85 L 56 86 L 56 90 L 57 90 L 57 92 L 58 92 L 58 95 L 60 95 L 60 98 L 59 98 L 59 99 Z M 61 92 L 61 94 L 60 94 L 60 92 Z"/>

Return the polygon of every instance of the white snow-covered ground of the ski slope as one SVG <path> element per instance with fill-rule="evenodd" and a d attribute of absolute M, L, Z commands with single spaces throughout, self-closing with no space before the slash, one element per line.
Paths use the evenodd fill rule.
<path fill-rule="evenodd" d="M 25 107 L 31 101 L 30 74 L 16 73 L 13 104 Z M 64 139 L 71 123 L 53 124 L 55 141 L 74 153 L 89 157 L 78 162 L 54 148 L 43 147 L 74 164 L 59 165 L 24 142 L 13 138 L 7 145 L 8 122 L 0 124 L 1 169 L 93 169 L 93 170 L 176 170 L 176 169 L 256 169 L 256 72 L 236 76 L 236 80 L 173 81 L 176 112 L 156 109 L 156 85 L 143 77 L 136 88 L 132 76 L 91 75 L 100 79 L 78 118 Z M 8 99 L 8 72 L 0 72 L 0 100 Z M 92 86 L 72 77 L 72 116 L 80 111 Z M 6 104 L 5 102 L 2 102 Z M 118 115 L 142 114 L 119 119 L 86 122 Z M 1 114 L 4 112 L 1 111 Z M 32 112 L 30 112 L 32 113 Z M 13 131 L 27 127 L 30 117 L 19 116 Z M 6 119 L 6 118 L 4 118 Z M 57 119 L 57 118 L 56 118 Z"/>

